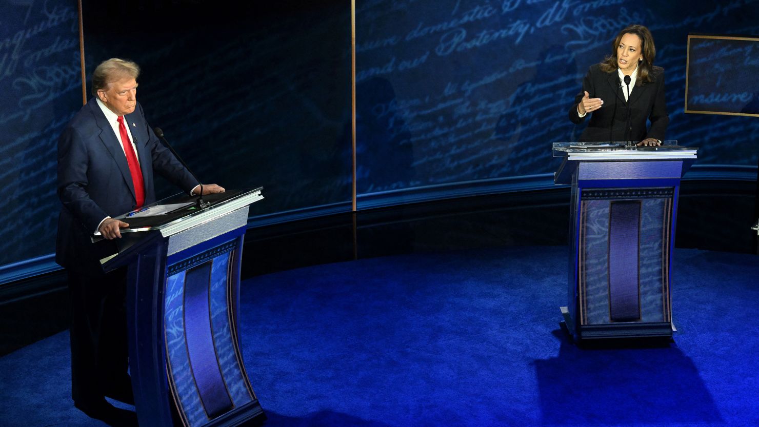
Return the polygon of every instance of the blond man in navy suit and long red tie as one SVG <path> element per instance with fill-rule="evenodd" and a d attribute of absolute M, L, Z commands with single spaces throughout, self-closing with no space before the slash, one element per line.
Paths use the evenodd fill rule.
<path fill-rule="evenodd" d="M 162 146 L 137 103 L 140 68 L 112 58 L 93 72 L 93 98 L 68 123 L 58 141 L 58 218 L 55 261 L 68 272 L 71 290 L 71 394 L 93 418 L 124 416 L 104 399 L 134 403 L 127 373 L 126 271 L 105 274 L 90 236 L 121 237 L 114 219 L 156 199 L 154 173 L 187 193 L 199 183 Z M 203 194 L 221 193 L 216 184 Z M 110 243 L 110 242 L 106 242 Z"/>

